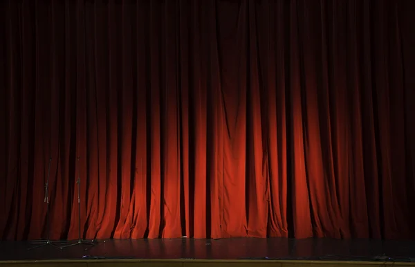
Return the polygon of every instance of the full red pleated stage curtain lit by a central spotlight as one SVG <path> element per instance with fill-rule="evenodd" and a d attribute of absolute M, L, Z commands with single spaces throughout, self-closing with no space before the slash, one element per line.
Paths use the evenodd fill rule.
<path fill-rule="evenodd" d="M 0 238 L 415 238 L 414 2 L 1 1 Z"/>

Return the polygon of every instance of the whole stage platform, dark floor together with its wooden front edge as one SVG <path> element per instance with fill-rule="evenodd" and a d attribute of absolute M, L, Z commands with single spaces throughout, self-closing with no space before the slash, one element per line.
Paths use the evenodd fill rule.
<path fill-rule="evenodd" d="M 0 241 L 0 267 L 415 266 L 415 241 L 334 239 L 106 240 L 59 250 Z"/>

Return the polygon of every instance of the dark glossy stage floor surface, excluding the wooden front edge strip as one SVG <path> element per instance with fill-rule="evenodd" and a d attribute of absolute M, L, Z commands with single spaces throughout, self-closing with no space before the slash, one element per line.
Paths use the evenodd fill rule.
<path fill-rule="evenodd" d="M 415 241 L 335 239 L 138 239 L 97 246 L 28 250 L 28 242 L 0 242 L 0 261 L 57 259 L 228 259 L 415 262 Z"/>

